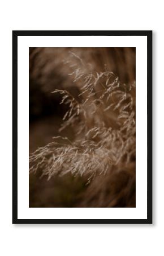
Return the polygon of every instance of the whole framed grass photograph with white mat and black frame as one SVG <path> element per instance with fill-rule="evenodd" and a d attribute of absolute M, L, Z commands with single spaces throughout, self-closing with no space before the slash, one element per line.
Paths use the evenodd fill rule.
<path fill-rule="evenodd" d="M 152 224 L 152 31 L 12 31 L 12 223 Z"/>

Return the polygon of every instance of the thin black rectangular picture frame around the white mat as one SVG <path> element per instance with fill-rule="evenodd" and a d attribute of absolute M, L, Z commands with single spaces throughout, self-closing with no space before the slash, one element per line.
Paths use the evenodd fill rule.
<path fill-rule="evenodd" d="M 147 37 L 146 219 L 18 219 L 18 36 Z M 152 31 L 12 31 L 12 224 L 152 224 Z"/>

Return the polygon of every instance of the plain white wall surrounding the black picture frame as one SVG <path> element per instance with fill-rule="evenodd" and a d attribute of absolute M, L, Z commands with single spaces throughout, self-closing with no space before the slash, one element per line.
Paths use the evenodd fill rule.
<path fill-rule="evenodd" d="M 163 254 L 163 1 L 1 1 L 1 255 Z M 12 30 L 153 30 L 153 225 L 12 225 Z M 4 111 L 5 110 L 5 111 Z M 159 251 L 159 252 L 157 252 Z"/>

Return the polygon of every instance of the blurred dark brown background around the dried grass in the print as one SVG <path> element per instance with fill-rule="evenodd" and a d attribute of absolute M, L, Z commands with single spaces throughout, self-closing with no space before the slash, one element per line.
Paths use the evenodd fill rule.
<path fill-rule="evenodd" d="M 122 83 L 135 81 L 135 48 L 29 48 L 29 153 L 59 135 L 66 106 L 60 105 L 61 97 L 51 92 L 58 88 L 67 89 L 75 97 L 79 93 L 76 82 L 68 75 L 78 64 L 77 58 L 74 63 L 74 55 L 83 60 L 88 72 L 107 69 Z M 74 132 L 68 128 L 60 135 L 74 139 Z M 104 182 L 105 187 L 98 185 Z M 48 181 L 46 177 L 40 179 L 39 173 L 31 174 L 29 207 L 107 207 L 108 184 L 113 186 L 115 196 L 127 183 L 124 173 L 118 177 L 99 177 L 92 185 L 86 185 L 83 177 L 67 175 Z M 135 207 L 135 181 L 131 189 L 129 198 L 120 196 L 113 207 Z"/>

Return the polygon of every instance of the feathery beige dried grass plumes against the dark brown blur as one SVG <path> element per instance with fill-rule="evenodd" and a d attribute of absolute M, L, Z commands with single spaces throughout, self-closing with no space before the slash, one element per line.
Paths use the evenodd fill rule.
<path fill-rule="evenodd" d="M 55 89 L 68 107 L 60 131 L 71 126 L 74 140 L 54 137 L 29 156 L 29 172 L 80 175 L 90 183 L 94 177 L 121 170 L 135 158 L 135 82 L 122 84 L 113 72 L 88 72 L 89 65 L 75 53 L 64 61 L 70 65 L 79 96 Z M 72 60 L 73 59 L 73 60 Z"/>

